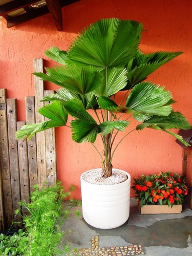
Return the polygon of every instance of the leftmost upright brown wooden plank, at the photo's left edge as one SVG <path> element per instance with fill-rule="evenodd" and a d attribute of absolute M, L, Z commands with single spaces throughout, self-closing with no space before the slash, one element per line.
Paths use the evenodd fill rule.
<path fill-rule="evenodd" d="M 4 212 L 6 227 L 10 227 L 13 221 L 13 208 L 11 196 L 11 176 L 9 164 L 9 145 L 7 131 L 7 106 L 6 106 L 6 90 L 0 89 L 0 151 L 1 151 L 1 167 L 2 167 L 2 182 L 4 194 Z"/>

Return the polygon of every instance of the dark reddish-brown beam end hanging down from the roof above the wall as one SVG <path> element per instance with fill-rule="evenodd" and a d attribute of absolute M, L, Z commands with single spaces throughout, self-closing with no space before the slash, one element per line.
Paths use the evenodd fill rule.
<path fill-rule="evenodd" d="M 46 3 L 57 30 L 62 31 L 62 13 L 59 0 L 46 0 Z"/>

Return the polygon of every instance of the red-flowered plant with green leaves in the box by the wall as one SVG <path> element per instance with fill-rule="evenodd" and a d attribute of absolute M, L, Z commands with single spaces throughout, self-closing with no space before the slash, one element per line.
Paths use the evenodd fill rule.
<path fill-rule="evenodd" d="M 168 204 L 173 207 L 174 204 L 182 204 L 184 196 L 188 194 L 185 177 L 172 172 L 141 175 L 134 181 L 132 188 L 141 207 L 147 204 Z"/>

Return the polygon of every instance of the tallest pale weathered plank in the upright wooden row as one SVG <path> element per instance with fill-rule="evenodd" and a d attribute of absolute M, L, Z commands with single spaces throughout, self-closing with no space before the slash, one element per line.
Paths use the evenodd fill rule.
<path fill-rule="evenodd" d="M 34 59 L 34 72 L 43 72 L 43 60 L 42 58 Z M 44 97 L 44 83 L 35 76 L 35 120 L 36 122 L 45 121 L 44 116 L 40 115 L 37 110 L 44 106 L 44 102 L 40 100 Z M 39 188 L 46 186 L 47 182 L 47 170 L 46 170 L 46 139 L 45 131 L 36 134 L 37 144 L 37 169 L 38 169 L 38 185 Z"/>

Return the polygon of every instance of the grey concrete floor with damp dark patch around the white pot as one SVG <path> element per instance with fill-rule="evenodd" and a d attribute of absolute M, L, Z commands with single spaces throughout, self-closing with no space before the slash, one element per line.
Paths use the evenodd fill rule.
<path fill-rule="evenodd" d="M 92 236 L 99 235 L 99 247 L 142 245 L 147 256 L 191 256 L 192 210 L 188 205 L 186 200 L 181 214 L 141 215 L 136 199 L 131 199 L 129 220 L 118 228 L 94 228 L 72 214 L 61 229 L 72 249 L 90 248 Z M 81 207 L 73 210 L 77 208 L 81 212 Z"/>

